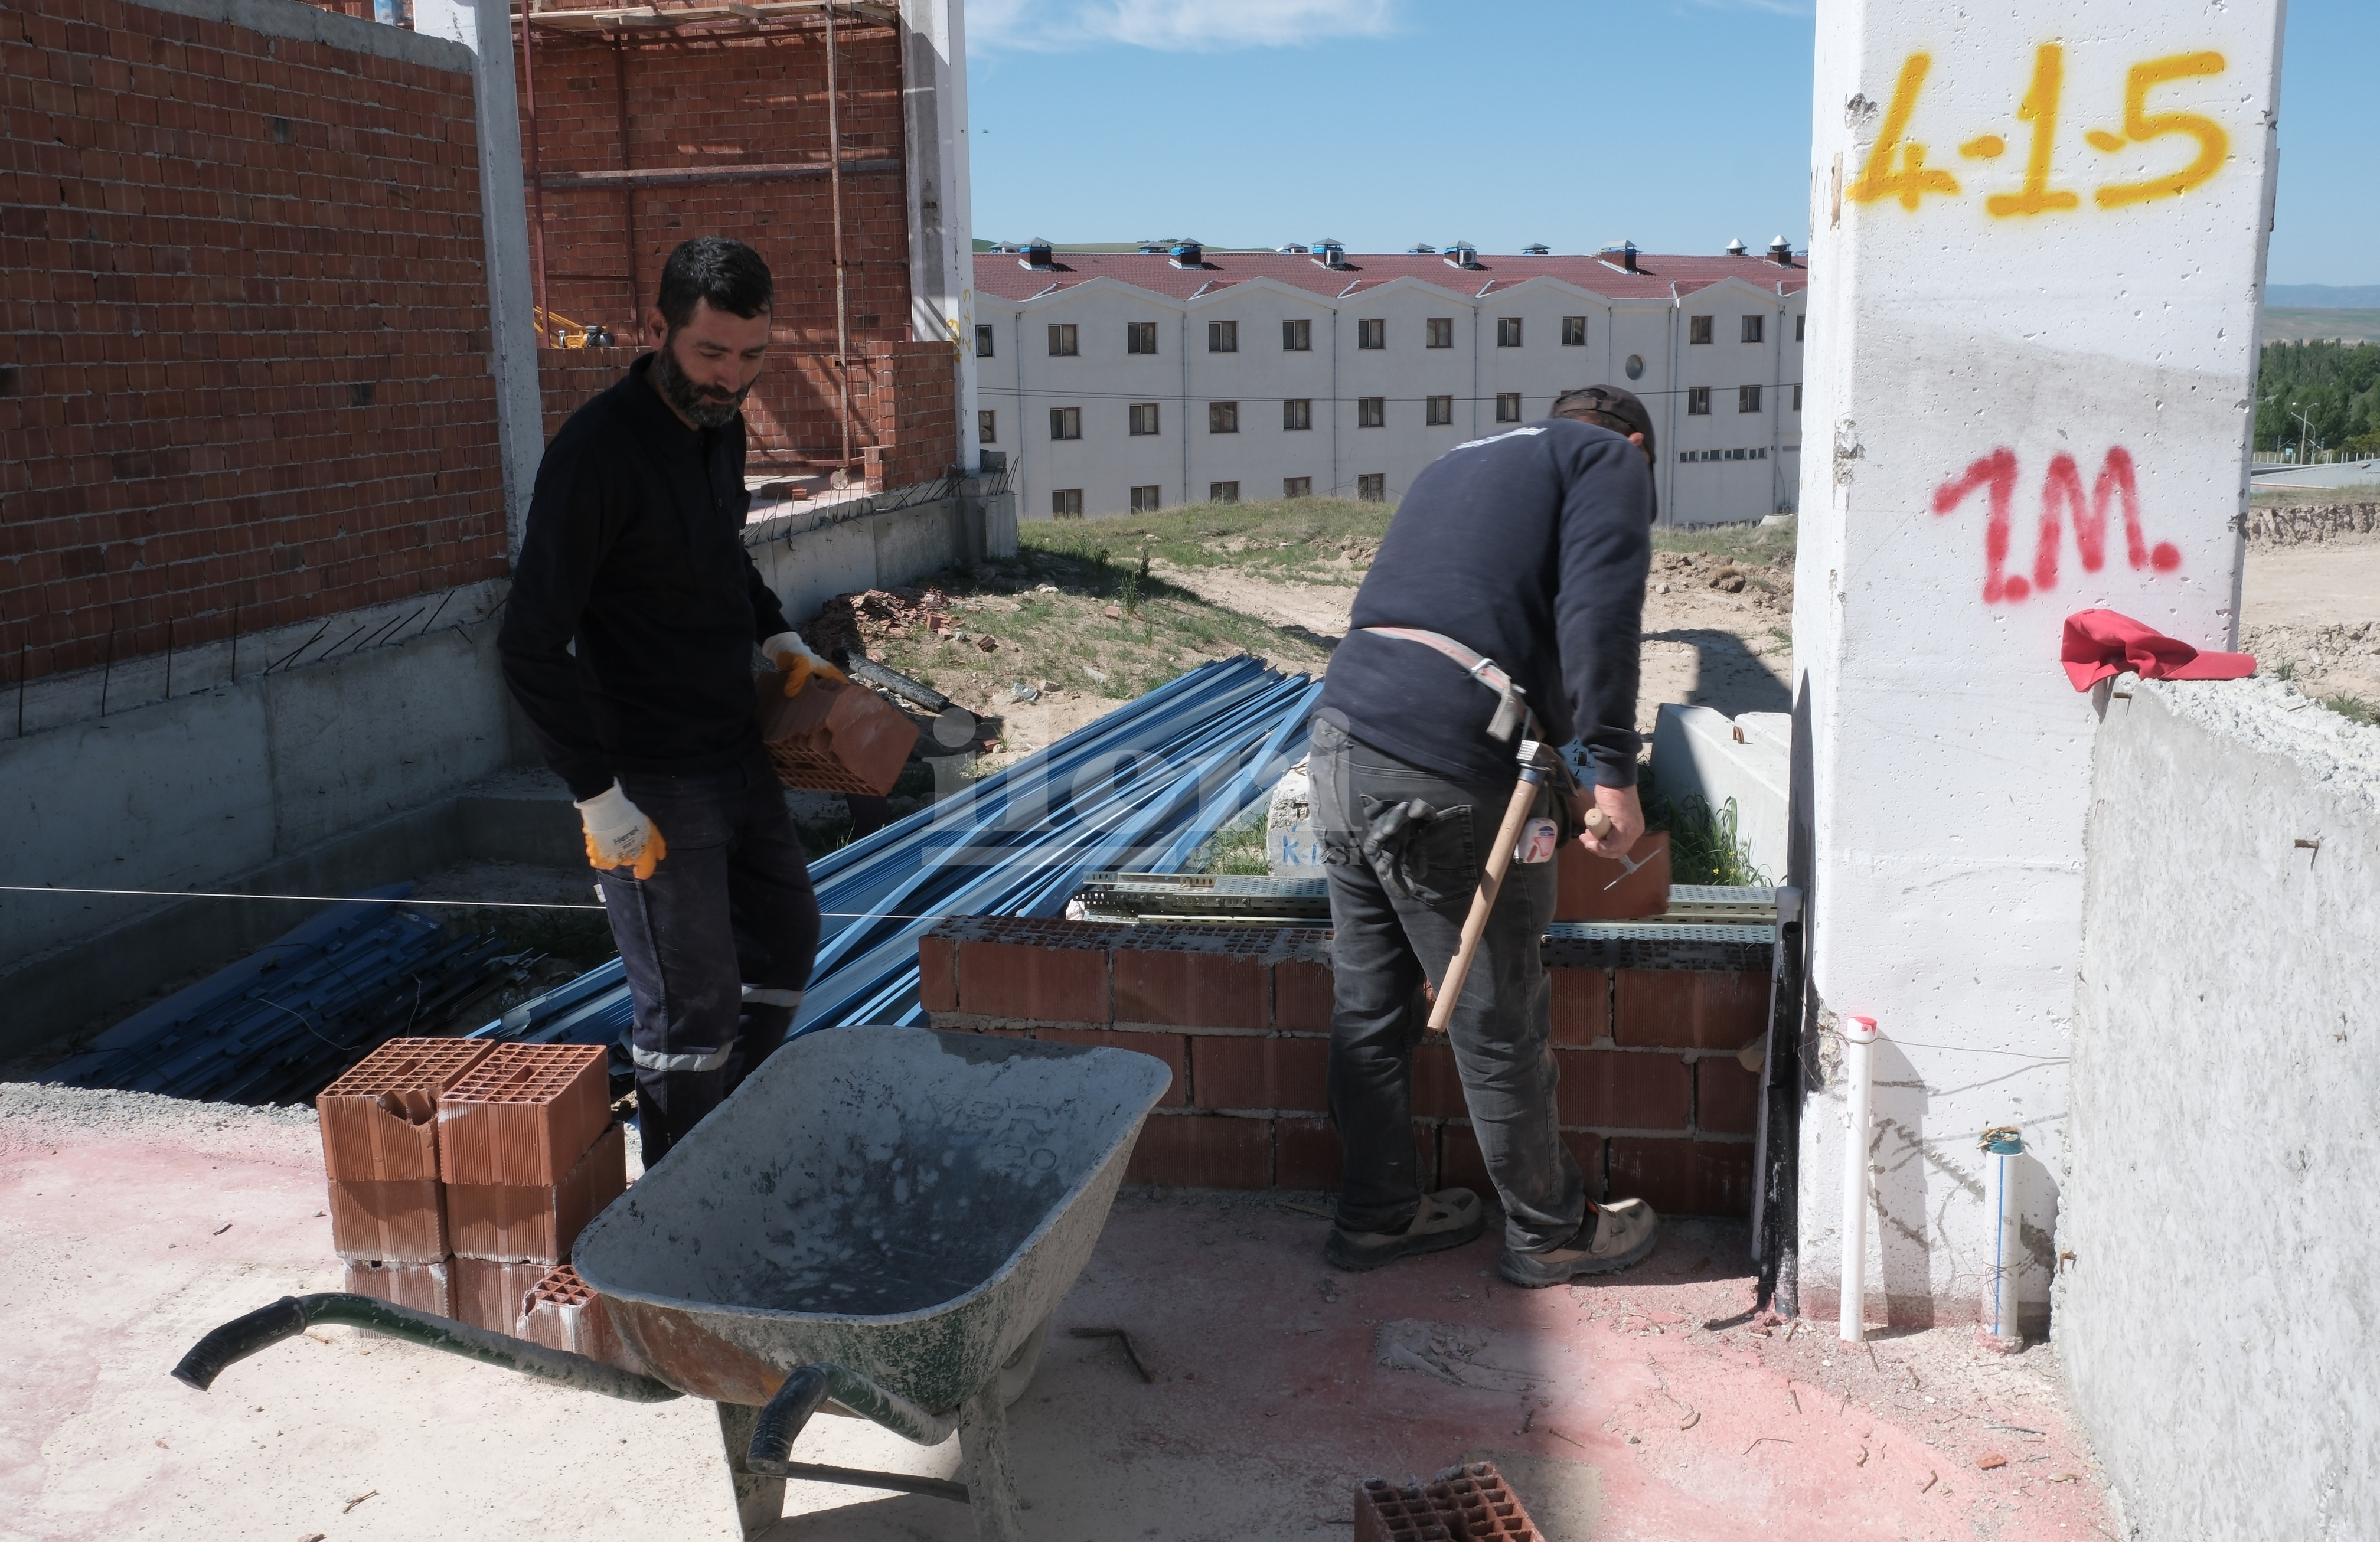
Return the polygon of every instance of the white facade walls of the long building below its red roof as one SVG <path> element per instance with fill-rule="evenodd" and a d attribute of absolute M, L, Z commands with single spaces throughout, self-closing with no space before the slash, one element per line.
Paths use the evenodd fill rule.
<path fill-rule="evenodd" d="M 990 262 L 1021 262 L 992 255 Z M 1064 262 L 1064 252 L 1059 255 Z M 1433 459 L 1497 428 L 1497 395 L 1521 395 L 1521 421 L 1554 397 L 1606 381 L 1645 397 L 1661 447 L 1666 524 L 1721 524 L 1792 509 L 1802 414 L 1802 293 L 1778 295 L 1730 278 L 1678 302 L 1609 300 L 1559 278 L 1488 286 L 1447 264 L 1442 283 L 1397 278 L 1342 297 L 1252 278 L 1176 300 L 1095 278 L 1047 297 L 976 297 L 995 352 L 976 359 L 981 402 L 995 414 L 1019 509 L 1047 519 L 1054 490 L 1081 488 L 1083 512 L 1123 514 L 1130 490 L 1159 488 L 1166 507 L 1197 502 L 1214 483 L 1240 497 L 1280 497 L 1285 478 L 1316 495 L 1354 497 L 1359 476 L 1383 476 L 1390 502 Z M 1478 290 L 1488 288 L 1485 295 Z M 1687 345 L 1687 316 L 1714 319 L 1711 345 Z M 1761 343 L 1740 343 L 1759 314 Z M 1497 345 L 1497 319 L 1521 319 L 1521 347 Z M 1587 319 L 1583 345 L 1561 343 L 1564 316 Z M 1307 319 L 1311 350 L 1288 352 L 1280 324 Z M 1385 347 L 1359 347 L 1359 321 L 1383 321 Z M 1428 347 L 1428 321 L 1452 321 L 1452 347 Z M 1157 355 L 1128 355 L 1126 326 L 1157 324 Z M 1209 321 L 1238 321 L 1240 350 L 1207 350 Z M 1078 352 L 1050 355 L 1050 326 L 1076 326 Z M 1637 374 L 1628 374 L 1628 362 Z M 1683 386 L 1711 386 L 1711 414 L 1685 412 Z M 1737 409 L 1737 388 L 1759 386 L 1759 412 Z M 1452 397 L 1452 421 L 1428 424 L 1428 397 Z M 1283 428 L 1283 400 L 1309 400 L 1311 428 Z M 1383 397 L 1385 424 L 1359 428 L 1359 402 Z M 1159 433 L 1130 433 L 1130 405 L 1154 402 Z M 1240 431 L 1209 433 L 1209 402 L 1238 402 Z M 1050 409 L 1078 407 L 1081 440 L 1050 438 Z"/>

